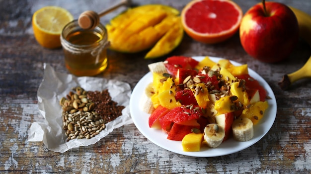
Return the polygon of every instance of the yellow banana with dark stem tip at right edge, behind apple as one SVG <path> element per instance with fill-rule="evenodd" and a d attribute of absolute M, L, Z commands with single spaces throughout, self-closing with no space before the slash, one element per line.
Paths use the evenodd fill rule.
<path fill-rule="evenodd" d="M 292 11 L 295 13 L 297 17 L 300 37 L 303 40 L 305 40 L 311 47 L 311 15 L 292 6 L 289 7 L 292 9 Z M 297 80 L 310 77 L 311 77 L 311 57 L 308 59 L 308 61 L 302 68 L 290 74 L 285 74 L 283 76 L 283 79 L 279 82 L 279 86 L 283 90 L 286 90 L 291 86 L 291 84 L 293 84 Z"/>

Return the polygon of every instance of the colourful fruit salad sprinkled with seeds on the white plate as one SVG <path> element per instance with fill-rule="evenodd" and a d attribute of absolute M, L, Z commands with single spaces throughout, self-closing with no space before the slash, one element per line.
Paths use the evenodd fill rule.
<path fill-rule="evenodd" d="M 229 138 L 250 140 L 269 107 L 266 90 L 248 74 L 247 64 L 173 56 L 149 69 L 153 82 L 141 100 L 151 114 L 149 127 L 181 141 L 184 151 L 216 148 Z"/>

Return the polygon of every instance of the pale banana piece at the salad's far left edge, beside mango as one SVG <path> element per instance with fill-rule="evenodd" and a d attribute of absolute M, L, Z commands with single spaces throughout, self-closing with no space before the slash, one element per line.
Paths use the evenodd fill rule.
<path fill-rule="evenodd" d="M 155 111 L 154 108 L 154 104 L 151 101 L 151 96 L 154 95 L 154 88 L 153 88 L 153 84 L 150 83 L 146 89 L 145 89 L 145 93 L 143 94 L 139 106 L 141 108 L 142 111 L 144 111 L 145 113 L 151 114 Z"/>

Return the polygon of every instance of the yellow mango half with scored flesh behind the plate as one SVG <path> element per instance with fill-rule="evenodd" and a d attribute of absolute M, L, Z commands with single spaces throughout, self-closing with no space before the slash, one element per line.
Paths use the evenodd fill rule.
<path fill-rule="evenodd" d="M 127 9 L 106 25 L 110 49 L 138 53 L 151 49 L 145 58 L 157 58 L 174 50 L 184 32 L 179 11 L 161 4 Z"/>

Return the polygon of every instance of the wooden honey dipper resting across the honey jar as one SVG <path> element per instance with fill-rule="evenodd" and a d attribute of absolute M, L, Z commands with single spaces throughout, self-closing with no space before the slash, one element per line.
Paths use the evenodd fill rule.
<path fill-rule="evenodd" d="M 87 10 L 80 14 L 78 18 L 78 24 L 83 29 L 94 29 L 99 24 L 99 18 L 123 5 L 129 5 L 130 0 L 121 0 L 119 3 L 107 8 L 100 13 L 95 11 Z"/>

